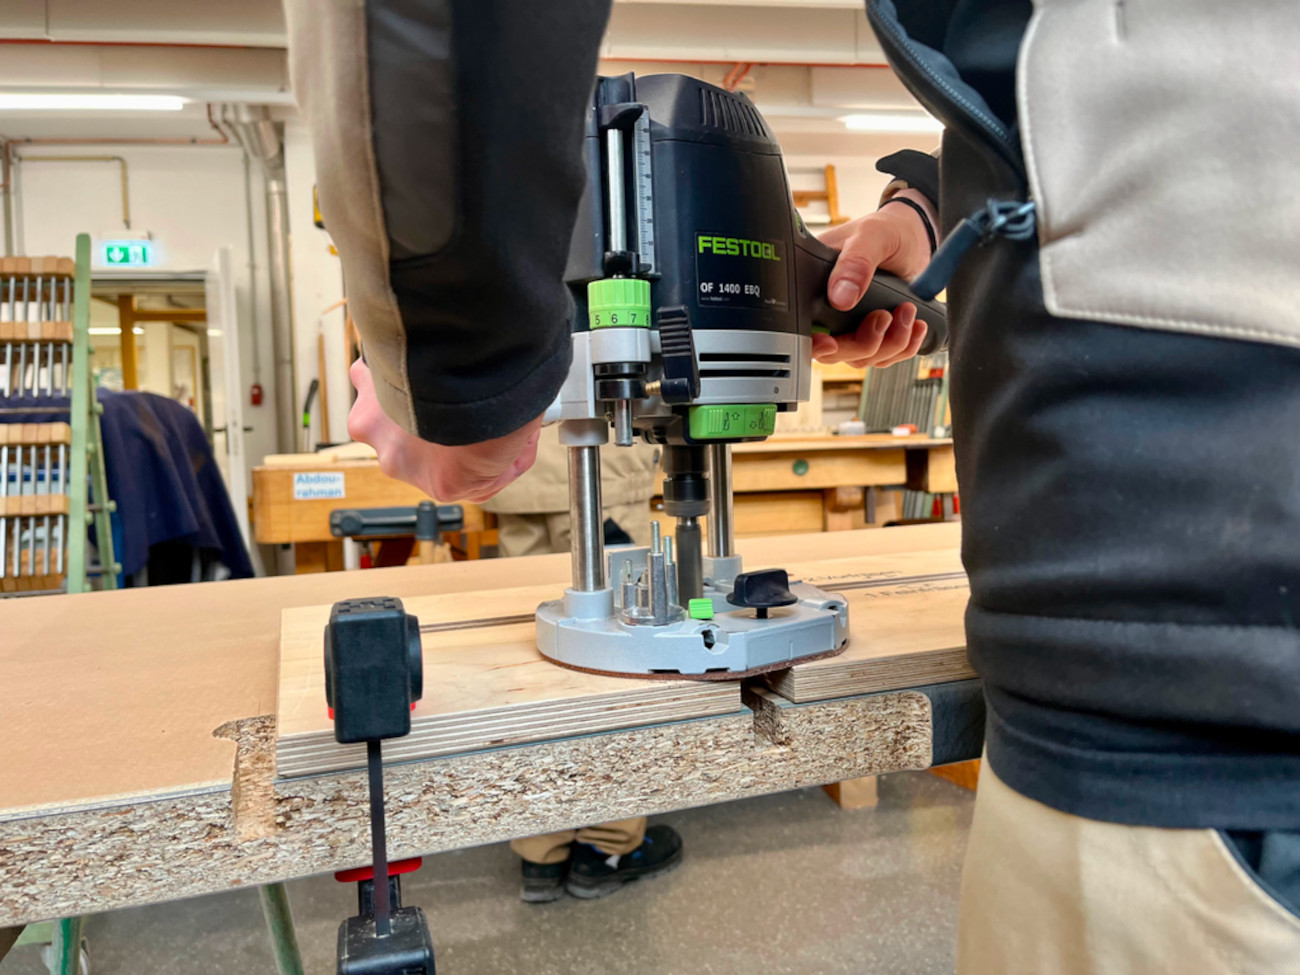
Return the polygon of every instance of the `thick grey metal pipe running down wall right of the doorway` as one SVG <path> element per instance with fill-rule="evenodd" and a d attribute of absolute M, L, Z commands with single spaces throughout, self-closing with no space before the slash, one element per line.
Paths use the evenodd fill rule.
<path fill-rule="evenodd" d="M 266 185 L 266 270 L 270 281 L 270 346 L 276 384 L 276 445 L 281 454 L 295 448 L 298 408 L 294 381 L 294 290 L 290 274 L 289 200 L 285 182 L 285 142 L 281 126 L 264 105 L 230 104 L 221 122 L 255 160 Z M 256 337 L 254 338 L 256 341 Z"/>

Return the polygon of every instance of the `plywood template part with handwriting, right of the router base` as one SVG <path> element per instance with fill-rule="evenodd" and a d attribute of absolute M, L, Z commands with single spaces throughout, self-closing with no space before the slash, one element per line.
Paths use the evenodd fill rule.
<path fill-rule="evenodd" d="M 766 675 L 783 697 L 802 703 L 976 676 L 962 625 L 970 589 L 956 550 L 803 568 L 805 581 L 848 598 L 850 638 L 838 656 Z M 863 573 L 870 585 L 861 585 Z"/>

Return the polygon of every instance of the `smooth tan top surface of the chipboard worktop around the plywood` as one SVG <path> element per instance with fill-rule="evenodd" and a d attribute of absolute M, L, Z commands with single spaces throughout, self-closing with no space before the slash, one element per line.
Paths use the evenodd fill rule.
<path fill-rule="evenodd" d="M 741 540 L 738 549 L 762 568 L 958 542 L 959 526 L 948 524 Z M 537 584 L 559 594 L 568 578 L 567 555 L 540 555 L 3 599 L 0 819 L 122 796 L 229 789 L 235 744 L 214 732 L 274 715 L 286 607 Z"/>

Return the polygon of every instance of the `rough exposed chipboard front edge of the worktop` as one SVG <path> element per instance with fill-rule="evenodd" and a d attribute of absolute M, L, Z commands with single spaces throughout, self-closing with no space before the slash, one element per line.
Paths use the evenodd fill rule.
<path fill-rule="evenodd" d="M 838 779 L 924 768 L 930 702 L 900 692 L 407 762 L 389 768 L 394 859 Z M 274 718 L 224 725 L 234 788 L 0 811 L 0 927 L 369 862 L 364 772 L 276 780 Z M 777 740 L 779 738 L 779 740 Z"/>

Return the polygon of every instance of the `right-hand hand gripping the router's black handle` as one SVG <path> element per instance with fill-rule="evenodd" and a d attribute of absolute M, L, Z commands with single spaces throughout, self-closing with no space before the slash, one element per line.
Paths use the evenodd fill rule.
<path fill-rule="evenodd" d="M 900 196 L 915 200 L 927 211 L 930 202 L 915 190 Z M 822 242 L 840 251 L 827 298 L 840 311 L 853 308 L 867 292 L 876 269 L 911 281 L 930 263 L 930 238 L 920 216 L 894 204 L 841 224 L 822 234 Z M 823 363 L 849 363 L 857 368 L 883 367 L 911 359 L 926 338 L 926 322 L 918 321 L 916 306 L 900 304 L 893 312 L 871 312 L 853 335 L 812 335 L 812 356 Z"/>

